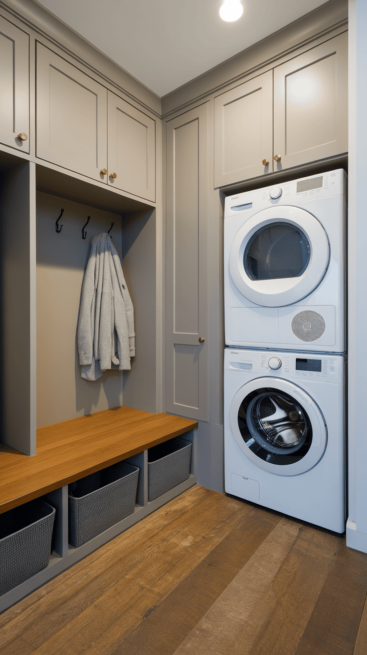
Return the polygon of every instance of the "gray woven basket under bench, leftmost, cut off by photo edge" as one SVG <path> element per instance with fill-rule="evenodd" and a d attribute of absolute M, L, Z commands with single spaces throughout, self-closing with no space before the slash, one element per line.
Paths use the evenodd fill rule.
<path fill-rule="evenodd" d="M 0 594 L 48 565 L 55 512 L 37 498 L 0 515 Z"/>

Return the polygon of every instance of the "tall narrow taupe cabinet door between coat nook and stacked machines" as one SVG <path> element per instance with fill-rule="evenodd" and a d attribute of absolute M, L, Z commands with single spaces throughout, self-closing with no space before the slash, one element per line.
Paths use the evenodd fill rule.
<path fill-rule="evenodd" d="M 209 103 L 166 123 L 166 411 L 209 420 Z"/>

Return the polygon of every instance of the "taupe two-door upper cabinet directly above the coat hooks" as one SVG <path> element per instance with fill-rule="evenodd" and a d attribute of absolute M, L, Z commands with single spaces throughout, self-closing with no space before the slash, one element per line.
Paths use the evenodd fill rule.
<path fill-rule="evenodd" d="M 36 133 L 40 159 L 155 201 L 155 122 L 40 43 Z"/>

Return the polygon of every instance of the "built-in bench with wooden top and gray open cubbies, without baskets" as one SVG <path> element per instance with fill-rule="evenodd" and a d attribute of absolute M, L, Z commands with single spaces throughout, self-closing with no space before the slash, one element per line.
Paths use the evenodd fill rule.
<path fill-rule="evenodd" d="M 0 514 L 40 496 L 56 507 L 48 567 L 3 594 L 0 612 L 194 485 L 197 428 L 196 421 L 122 406 L 39 428 L 34 457 L 0 444 Z M 148 502 L 148 449 L 179 435 L 192 442 L 190 476 Z M 73 548 L 67 538 L 67 485 L 122 460 L 140 468 L 135 512 Z"/>

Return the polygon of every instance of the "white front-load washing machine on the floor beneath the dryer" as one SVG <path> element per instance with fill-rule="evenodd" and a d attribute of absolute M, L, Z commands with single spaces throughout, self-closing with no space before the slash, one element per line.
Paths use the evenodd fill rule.
<path fill-rule="evenodd" d="M 224 350 L 227 493 L 343 533 L 346 358 Z"/>

